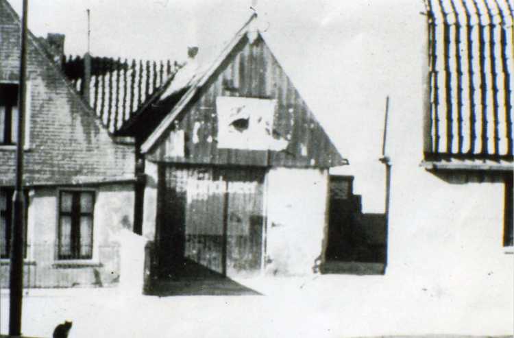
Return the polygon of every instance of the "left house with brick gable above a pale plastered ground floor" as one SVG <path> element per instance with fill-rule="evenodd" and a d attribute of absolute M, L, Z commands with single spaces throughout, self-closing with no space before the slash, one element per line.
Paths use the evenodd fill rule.
<path fill-rule="evenodd" d="M 55 36 L 53 37 L 55 38 Z M 20 19 L 0 1 L 0 284 L 9 276 Z M 55 39 L 54 39 L 55 40 Z M 59 39 L 58 39 L 59 40 Z M 29 34 L 23 187 L 25 286 L 110 285 L 117 232 L 132 230 L 134 149 L 119 143 L 64 76 L 60 58 Z M 130 206 L 130 207 L 127 207 Z"/>

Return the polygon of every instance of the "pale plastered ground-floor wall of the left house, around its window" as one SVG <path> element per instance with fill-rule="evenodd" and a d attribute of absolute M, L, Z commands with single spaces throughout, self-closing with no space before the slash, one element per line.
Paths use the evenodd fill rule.
<path fill-rule="evenodd" d="M 64 189 L 64 188 L 63 188 Z M 79 188 L 66 188 L 79 189 Z M 25 280 L 31 287 L 84 287 L 105 286 L 116 283 L 120 273 L 119 236 L 123 228 L 132 231 L 134 191 L 132 184 L 111 184 L 101 187 L 80 188 L 95 191 L 93 223 L 93 259 L 58 261 L 56 244 L 58 236 L 59 188 L 32 189 L 29 193 L 27 261 Z M 128 242 L 127 245 L 131 245 Z M 136 250 L 136 248 L 128 248 Z M 140 250 L 144 256 L 144 250 Z M 56 265 L 59 263 L 59 265 Z M 73 267 L 67 266 L 71 263 Z M 142 264 L 140 264 L 142 265 Z M 142 269 L 142 267 L 140 267 Z M 8 273 L 2 267 L 0 285 L 7 285 Z M 5 276 L 4 276 L 5 275 Z M 140 281 L 143 274 L 140 274 Z M 27 284 L 27 283 L 26 283 Z"/>

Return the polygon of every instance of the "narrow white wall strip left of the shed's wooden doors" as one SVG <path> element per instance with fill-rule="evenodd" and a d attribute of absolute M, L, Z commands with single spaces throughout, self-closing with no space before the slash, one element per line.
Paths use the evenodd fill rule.
<path fill-rule="evenodd" d="M 146 186 L 143 204 L 143 236 L 153 241 L 156 233 L 157 216 L 157 165 L 147 161 L 145 163 Z"/>

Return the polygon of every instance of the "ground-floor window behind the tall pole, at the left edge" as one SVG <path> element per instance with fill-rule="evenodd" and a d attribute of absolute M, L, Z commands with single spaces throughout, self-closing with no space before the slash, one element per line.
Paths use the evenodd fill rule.
<path fill-rule="evenodd" d="M 0 189 L 0 258 L 9 258 L 12 234 L 12 195 L 14 189 Z M 28 196 L 25 193 L 25 224 L 23 227 L 23 255 L 27 256 L 27 210 Z"/>

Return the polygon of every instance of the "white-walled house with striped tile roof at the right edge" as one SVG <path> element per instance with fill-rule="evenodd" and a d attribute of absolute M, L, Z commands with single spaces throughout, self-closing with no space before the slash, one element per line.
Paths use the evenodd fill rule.
<path fill-rule="evenodd" d="M 424 18 L 419 108 L 389 119 L 386 275 L 512 309 L 512 6 L 427 1 Z"/>

